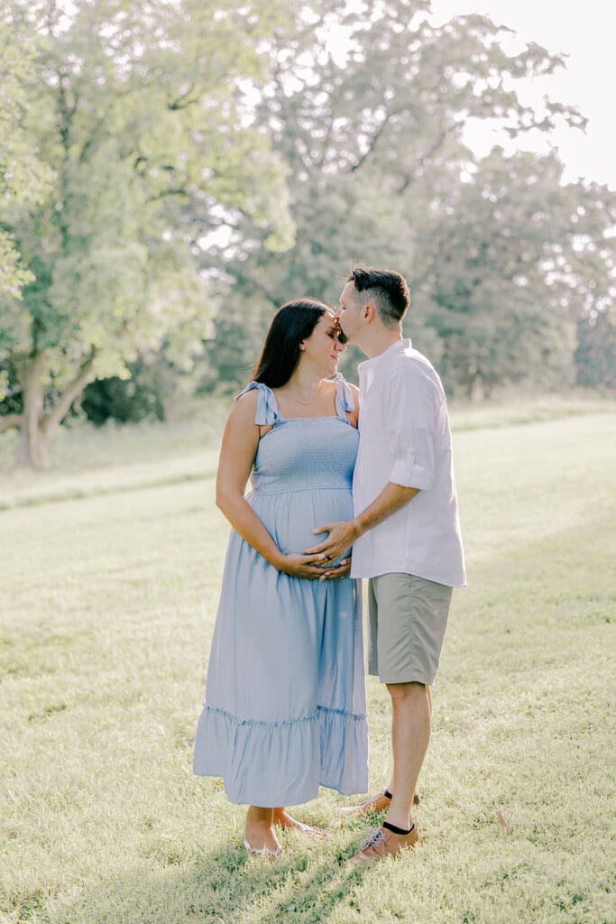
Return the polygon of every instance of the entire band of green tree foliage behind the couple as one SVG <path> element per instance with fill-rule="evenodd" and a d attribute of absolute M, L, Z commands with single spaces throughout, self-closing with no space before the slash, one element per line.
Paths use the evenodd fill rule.
<path fill-rule="evenodd" d="M 35 435 L 91 379 L 139 358 L 238 387 L 273 310 L 335 304 L 351 260 L 405 274 L 405 332 L 454 394 L 574 381 L 576 337 L 581 361 L 613 306 L 615 197 L 562 187 L 553 155 L 479 161 L 464 135 L 476 118 L 512 138 L 582 128 L 516 90 L 562 57 L 509 55 L 488 18 L 435 27 L 428 11 L 6 0 L 0 389 L 10 367 L 24 400 L 0 400 L 0 430 L 21 428 L 22 461 L 44 461 Z M 336 27 L 344 65 L 325 48 Z"/>

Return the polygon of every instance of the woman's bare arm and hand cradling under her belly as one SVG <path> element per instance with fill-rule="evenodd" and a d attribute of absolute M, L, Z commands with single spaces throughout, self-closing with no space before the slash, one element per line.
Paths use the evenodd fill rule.
<path fill-rule="evenodd" d="M 242 395 L 231 409 L 218 463 L 216 505 L 236 532 L 270 565 L 295 577 L 321 577 L 322 568 L 311 565 L 320 556 L 282 553 L 244 496 L 259 446 L 259 426 L 254 422 L 256 409 L 256 391 Z"/>

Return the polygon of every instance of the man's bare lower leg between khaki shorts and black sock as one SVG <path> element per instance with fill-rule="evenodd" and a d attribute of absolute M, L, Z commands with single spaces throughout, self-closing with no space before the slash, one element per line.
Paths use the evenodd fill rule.
<path fill-rule="evenodd" d="M 413 823 L 413 796 L 429 745 L 430 691 L 418 683 L 388 684 L 387 689 L 393 707 L 393 799 L 386 821 L 407 830 Z"/>

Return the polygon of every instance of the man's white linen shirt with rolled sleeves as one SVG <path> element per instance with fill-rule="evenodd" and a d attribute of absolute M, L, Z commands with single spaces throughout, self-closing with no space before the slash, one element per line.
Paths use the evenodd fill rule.
<path fill-rule="evenodd" d="M 351 576 L 397 571 L 463 587 L 452 435 L 441 379 L 408 339 L 360 363 L 358 371 L 356 516 L 389 481 L 418 488 L 419 493 L 359 537 L 353 546 Z"/>

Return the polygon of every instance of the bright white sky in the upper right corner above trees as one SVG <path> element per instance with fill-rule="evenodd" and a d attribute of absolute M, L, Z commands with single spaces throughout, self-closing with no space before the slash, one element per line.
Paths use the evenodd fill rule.
<path fill-rule="evenodd" d="M 588 119 L 586 134 L 563 127 L 553 136 L 565 164 L 564 179 L 584 176 L 616 189 L 614 0 L 432 0 L 432 10 L 439 24 L 465 13 L 487 14 L 498 25 L 515 30 L 524 43 L 537 42 L 552 53 L 570 55 L 566 69 L 525 88 L 525 102 L 548 94 L 576 105 Z M 467 137 L 479 153 L 487 152 L 496 140 L 493 130 L 486 128 L 475 128 Z M 531 148 L 529 141 L 525 143 Z"/>

